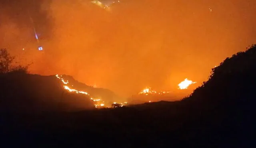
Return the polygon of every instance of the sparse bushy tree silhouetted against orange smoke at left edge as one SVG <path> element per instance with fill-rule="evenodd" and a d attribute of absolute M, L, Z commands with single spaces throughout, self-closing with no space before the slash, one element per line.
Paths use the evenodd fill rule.
<path fill-rule="evenodd" d="M 9 73 L 12 71 L 27 73 L 28 66 L 14 65 L 15 57 L 8 53 L 7 49 L 0 49 L 0 73 Z"/>

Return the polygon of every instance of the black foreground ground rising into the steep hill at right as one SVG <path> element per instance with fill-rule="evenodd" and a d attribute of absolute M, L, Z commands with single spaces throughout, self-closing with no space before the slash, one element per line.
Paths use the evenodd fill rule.
<path fill-rule="evenodd" d="M 214 68 L 209 80 L 182 101 L 40 115 L 2 114 L 0 144 L 62 148 L 254 148 L 255 74 L 253 46 Z"/>

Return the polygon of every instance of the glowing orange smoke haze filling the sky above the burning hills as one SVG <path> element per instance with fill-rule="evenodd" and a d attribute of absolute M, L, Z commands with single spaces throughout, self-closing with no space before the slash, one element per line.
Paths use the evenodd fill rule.
<path fill-rule="evenodd" d="M 186 77 L 195 88 L 256 41 L 255 0 L 123 0 L 110 12 L 86 0 L 54 0 L 41 9 L 48 18 L 34 22 L 47 26 L 37 27 L 49 35 L 40 39 L 44 54 L 31 25 L 20 27 L 3 9 L 0 47 L 34 61 L 32 73 L 72 75 L 125 97 L 145 86 L 174 90 Z"/>

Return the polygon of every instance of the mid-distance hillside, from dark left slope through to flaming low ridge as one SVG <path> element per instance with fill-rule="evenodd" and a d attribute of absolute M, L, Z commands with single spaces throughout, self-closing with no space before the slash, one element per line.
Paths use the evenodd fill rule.
<path fill-rule="evenodd" d="M 40 76 L 30 74 L 2 74 L 2 109 L 26 111 L 78 111 L 93 108 L 124 107 L 128 104 L 174 99 L 170 91 L 143 89 L 136 101 L 121 101 L 108 89 L 79 83 L 71 76 Z M 56 79 L 58 81 L 56 81 Z M 15 92 L 15 93 L 13 93 Z M 11 105 L 11 106 L 10 106 Z M 25 106 L 30 106 L 27 108 Z"/>

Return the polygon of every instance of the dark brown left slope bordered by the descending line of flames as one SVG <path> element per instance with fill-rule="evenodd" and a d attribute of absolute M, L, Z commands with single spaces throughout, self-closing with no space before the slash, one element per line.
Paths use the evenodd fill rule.
<path fill-rule="evenodd" d="M 89 98 L 63 89 L 55 76 L 11 72 L 0 75 L 2 111 L 76 111 L 92 109 Z"/>

